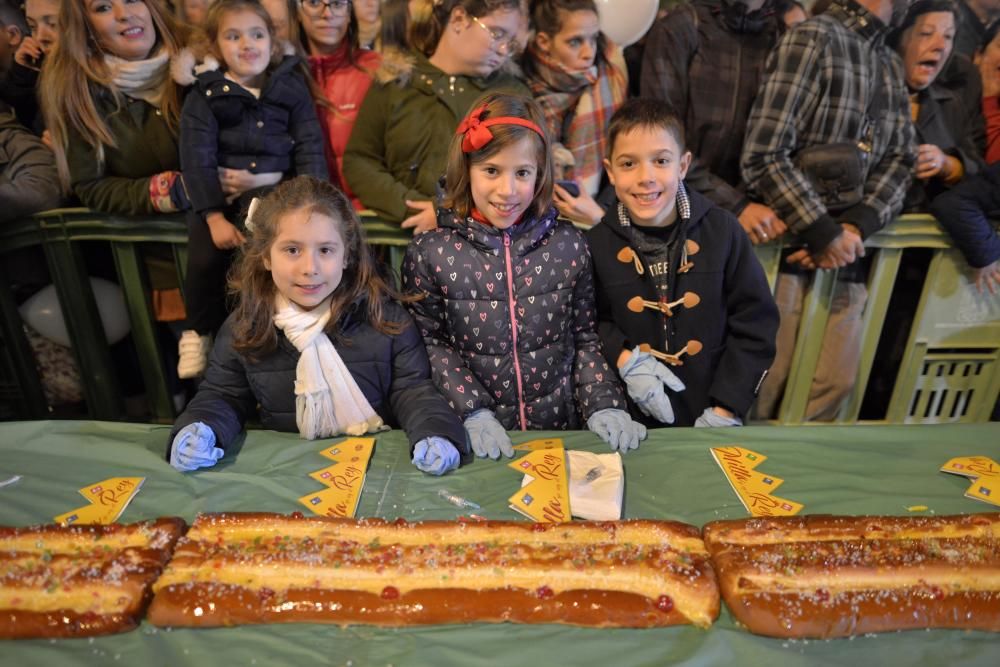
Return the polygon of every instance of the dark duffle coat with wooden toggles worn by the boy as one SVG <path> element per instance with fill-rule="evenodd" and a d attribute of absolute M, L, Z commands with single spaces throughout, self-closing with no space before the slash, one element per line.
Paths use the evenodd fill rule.
<path fill-rule="evenodd" d="M 674 408 L 674 426 L 691 426 L 713 405 L 746 416 L 774 360 L 778 309 L 736 218 L 697 192 L 682 193 L 678 195 L 681 227 L 670 256 L 669 299 L 676 301 L 685 292 L 694 292 L 701 301 L 693 308 L 676 307 L 666 327 L 665 316 L 658 310 L 635 313 L 628 308 L 633 297 L 649 301 L 659 297 L 649 271 L 640 275 L 632 260 L 619 259 L 624 248 L 641 253 L 629 229 L 618 220 L 617 203 L 601 224 L 587 232 L 587 241 L 594 258 L 599 329 L 608 359 L 616 361 L 623 349 L 640 343 L 671 353 L 689 340 L 704 346 L 697 355 L 684 356 L 683 366 L 673 368 L 686 389 L 680 393 L 666 390 Z M 687 204 L 681 204 L 685 197 L 690 216 L 684 215 Z M 622 257 L 627 259 L 625 254 Z M 678 273 L 685 261 L 693 266 Z M 650 426 L 665 425 L 645 417 L 635 405 L 632 408 L 635 419 Z"/>

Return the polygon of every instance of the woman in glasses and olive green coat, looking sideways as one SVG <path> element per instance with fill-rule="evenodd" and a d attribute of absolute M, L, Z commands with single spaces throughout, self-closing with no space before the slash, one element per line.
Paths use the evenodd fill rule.
<path fill-rule="evenodd" d="M 344 170 L 366 208 L 414 233 L 437 226 L 448 144 L 488 90 L 530 96 L 501 68 L 517 52 L 518 0 L 417 0 L 408 53 L 387 49 L 347 145 Z"/>

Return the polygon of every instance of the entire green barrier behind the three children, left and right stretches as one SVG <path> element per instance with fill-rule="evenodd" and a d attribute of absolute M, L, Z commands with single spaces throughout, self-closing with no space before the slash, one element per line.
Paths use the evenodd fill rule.
<path fill-rule="evenodd" d="M 398 271 L 412 238 L 410 232 L 368 212 L 361 217 L 368 242 L 384 247 L 387 260 Z M 167 389 L 165 361 L 156 338 L 151 290 L 141 254 L 147 243 L 167 244 L 183 285 L 186 225 L 179 216 L 133 218 L 99 215 L 87 209 L 59 209 L 0 229 L 0 248 L 4 252 L 32 245 L 44 248 L 66 325 L 75 343 L 74 354 L 85 379 L 89 416 L 115 420 L 124 415 L 122 397 L 80 252 L 80 243 L 84 241 L 103 241 L 111 246 L 131 318 L 150 412 L 154 420 L 169 422 L 175 416 L 174 408 Z M 978 295 L 961 256 L 929 216 L 903 216 L 870 238 L 866 245 L 875 250 L 875 256 L 864 313 L 861 364 L 855 390 L 842 406 L 838 422 L 858 420 L 902 252 L 914 247 L 933 248 L 935 256 L 885 421 L 988 419 L 1000 393 L 1000 300 Z M 781 246 L 772 243 L 758 246 L 756 251 L 773 286 Z M 0 279 L 3 317 L 0 403 L 12 406 L 17 418 L 43 417 L 47 407 L 10 295 L 9 277 L 0 275 Z M 778 423 L 798 424 L 804 420 L 835 279 L 835 272 L 817 272 L 806 297 Z M 0 411 L 0 418 L 10 416 Z"/>

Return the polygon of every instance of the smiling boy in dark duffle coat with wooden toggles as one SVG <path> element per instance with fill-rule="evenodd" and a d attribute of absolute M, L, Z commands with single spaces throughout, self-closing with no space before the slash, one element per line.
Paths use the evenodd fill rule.
<path fill-rule="evenodd" d="M 618 201 L 587 232 L 604 354 L 647 425 L 740 425 L 774 358 L 763 269 L 736 218 L 684 187 L 671 111 L 630 100 L 608 134 Z"/>

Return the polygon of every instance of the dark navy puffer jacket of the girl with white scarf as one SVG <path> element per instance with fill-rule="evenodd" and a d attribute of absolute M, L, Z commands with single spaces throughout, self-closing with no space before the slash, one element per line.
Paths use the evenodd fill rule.
<path fill-rule="evenodd" d="M 427 352 L 406 310 L 396 303 L 385 305 L 387 320 L 410 325 L 396 336 L 379 333 L 364 317 L 366 312 L 367 304 L 356 302 L 341 318 L 341 337 L 347 344 L 332 340 L 372 408 L 386 424 L 406 431 L 411 450 L 420 440 L 436 435 L 450 440 L 463 461 L 471 460 L 465 429 L 430 380 Z M 250 361 L 233 350 L 232 320 L 231 315 L 219 330 L 205 380 L 177 418 L 169 443 L 188 424 L 203 422 L 225 449 L 258 403 L 264 428 L 298 431 L 295 366 L 299 351 L 279 331 L 278 348 L 259 361 Z"/>

